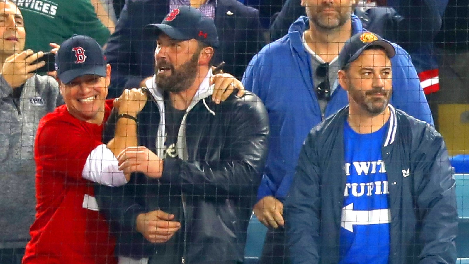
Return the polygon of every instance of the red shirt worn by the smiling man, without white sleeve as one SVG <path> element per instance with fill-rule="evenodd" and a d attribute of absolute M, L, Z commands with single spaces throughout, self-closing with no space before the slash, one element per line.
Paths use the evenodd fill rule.
<path fill-rule="evenodd" d="M 104 122 L 111 109 L 106 101 Z M 34 148 L 37 213 L 23 264 L 117 263 L 106 220 L 87 208 L 93 184 L 82 178 L 86 158 L 102 144 L 103 124 L 80 121 L 65 105 L 41 119 Z"/>

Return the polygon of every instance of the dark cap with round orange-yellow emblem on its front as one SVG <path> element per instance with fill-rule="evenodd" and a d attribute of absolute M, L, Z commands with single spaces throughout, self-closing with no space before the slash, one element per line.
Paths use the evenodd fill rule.
<path fill-rule="evenodd" d="M 391 42 L 370 31 L 360 32 L 345 42 L 344 47 L 339 53 L 339 69 L 343 70 L 348 63 L 355 61 L 370 46 L 384 48 L 389 58 L 394 57 L 396 54 L 396 50 Z"/>

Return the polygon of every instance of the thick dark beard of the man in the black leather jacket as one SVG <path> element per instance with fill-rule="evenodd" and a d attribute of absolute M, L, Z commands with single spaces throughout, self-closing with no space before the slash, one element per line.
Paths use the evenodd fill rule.
<path fill-rule="evenodd" d="M 155 67 L 155 82 L 156 86 L 163 91 L 170 93 L 180 93 L 189 89 L 190 85 L 194 83 L 194 80 L 197 77 L 197 66 L 198 66 L 199 53 L 192 55 L 192 58 L 181 65 L 181 67 L 176 70 L 174 65 L 161 61 L 157 63 Z M 171 69 L 171 74 L 169 76 L 158 74 L 159 66 L 168 67 Z"/>

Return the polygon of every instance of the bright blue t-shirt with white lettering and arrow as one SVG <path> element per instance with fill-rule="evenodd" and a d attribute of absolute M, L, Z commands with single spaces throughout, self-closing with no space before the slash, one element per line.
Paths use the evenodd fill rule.
<path fill-rule="evenodd" d="M 381 155 L 387 127 L 359 134 L 345 122 L 347 183 L 340 223 L 340 264 L 388 263 L 389 190 Z"/>

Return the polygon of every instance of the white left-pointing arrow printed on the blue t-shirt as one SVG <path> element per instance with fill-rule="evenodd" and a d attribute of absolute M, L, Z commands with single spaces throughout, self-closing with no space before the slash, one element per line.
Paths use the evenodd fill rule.
<path fill-rule="evenodd" d="M 340 226 L 353 233 L 353 225 L 375 225 L 391 222 L 389 209 L 377 209 L 370 211 L 353 210 L 353 203 L 342 208 Z"/>

